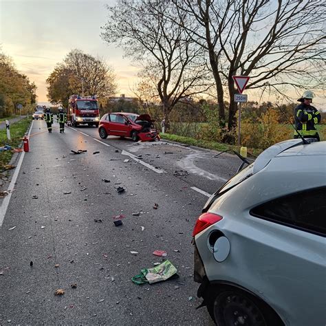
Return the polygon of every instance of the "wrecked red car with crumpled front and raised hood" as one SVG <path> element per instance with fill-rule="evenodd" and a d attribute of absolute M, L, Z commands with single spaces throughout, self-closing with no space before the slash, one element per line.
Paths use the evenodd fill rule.
<path fill-rule="evenodd" d="M 108 135 L 130 137 L 134 142 L 138 140 L 160 140 L 157 130 L 149 114 L 113 112 L 102 116 L 98 126 L 100 138 Z"/>

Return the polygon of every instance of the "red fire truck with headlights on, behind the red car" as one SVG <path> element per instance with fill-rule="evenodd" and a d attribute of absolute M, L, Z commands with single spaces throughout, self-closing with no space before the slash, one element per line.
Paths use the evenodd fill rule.
<path fill-rule="evenodd" d="M 77 127 L 79 124 L 88 124 L 98 127 L 100 111 L 95 96 L 69 96 L 67 124 Z"/>

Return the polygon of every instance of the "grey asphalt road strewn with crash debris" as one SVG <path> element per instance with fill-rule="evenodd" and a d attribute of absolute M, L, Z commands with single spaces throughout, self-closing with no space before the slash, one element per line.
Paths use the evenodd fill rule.
<path fill-rule="evenodd" d="M 213 325 L 195 309 L 191 233 L 207 196 L 240 164 L 215 154 L 100 140 L 96 128 L 60 134 L 55 123 L 47 133 L 35 120 L 0 229 L 0 324 Z M 162 261 L 154 250 L 167 252 L 179 278 L 135 285 L 132 276 Z"/>

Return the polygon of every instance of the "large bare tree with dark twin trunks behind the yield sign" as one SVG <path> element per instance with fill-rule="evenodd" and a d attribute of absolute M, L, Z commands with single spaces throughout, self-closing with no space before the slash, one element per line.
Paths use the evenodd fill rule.
<path fill-rule="evenodd" d="M 232 76 L 250 76 L 247 89 L 282 95 L 290 88 L 325 89 L 325 2 L 316 0 L 173 0 L 182 25 L 206 50 L 215 79 L 220 123 L 230 100 L 235 127 L 237 92 Z M 226 95 L 227 94 L 227 95 Z"/>

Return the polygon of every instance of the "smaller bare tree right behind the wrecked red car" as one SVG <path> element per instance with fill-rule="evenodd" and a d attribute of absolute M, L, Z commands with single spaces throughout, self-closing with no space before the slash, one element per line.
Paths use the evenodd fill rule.
<path fill-rule="evenodd" d="M 177 102 L 212 85 L 202 48 L 182 28 L 170 0 L 120 0 L 107 9 L 109 19 L 102 28 L 102 39 L 124 48 L 127 56 L 142 65 L 140 78 L 155 87 L 169 124 Z"/>

